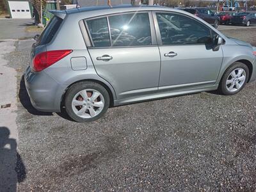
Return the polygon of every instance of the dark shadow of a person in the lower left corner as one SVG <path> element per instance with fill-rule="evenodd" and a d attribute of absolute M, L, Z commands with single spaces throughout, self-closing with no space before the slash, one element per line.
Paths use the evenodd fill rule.
<path fill-rule="evenodd" d="M 17 182 L 26 179 L 26 168 L 17 152 L 17 142 L 10 130 L 0 127 L 0 191 L 17 191 Z"/>

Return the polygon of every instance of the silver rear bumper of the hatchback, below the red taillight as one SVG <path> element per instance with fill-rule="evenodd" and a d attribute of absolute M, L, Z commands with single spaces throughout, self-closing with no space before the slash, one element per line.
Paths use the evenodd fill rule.
<path fill-rule="evenodd" d="M 44 71 L 32 72 L 30 67 L 24 74 L 24 80 L 31 104 L 35 109 L 44 112 L 60 112 L 65 86 L 61 86 Z"/>

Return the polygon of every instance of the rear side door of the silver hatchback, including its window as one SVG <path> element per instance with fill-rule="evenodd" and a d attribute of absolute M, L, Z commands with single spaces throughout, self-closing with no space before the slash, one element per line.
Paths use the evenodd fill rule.
<path fill-rule="evenodd" d="M 157 92 L 160 56 L 151 12 L 108 15 L 85 22 L 95 70 L 113 86 L 117 99 Z"/>

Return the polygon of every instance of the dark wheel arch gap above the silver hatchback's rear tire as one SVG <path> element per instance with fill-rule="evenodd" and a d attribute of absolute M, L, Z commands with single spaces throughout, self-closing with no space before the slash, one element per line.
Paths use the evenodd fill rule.
<path fill-rule="evenodd" d="M 73 83 L 71 83 L 67 86 L 64 93 L 61 96 L 61 102 L 60 102 L 61 106 L 60 106 L 60 108 L 62 108 L 64 106 L 66 93 L 67 93 L 67 90 L 70 88 L 70 86 L 72 86 L 73 84 L 76 84 L 76 83 L 80 83 L 80 82 L 94 82 L 94 83 L 98 83 L 101 86 L 103 86 L 104 88 L 106 88 L 106 90 L 108 92 L 108 95 L 109 95 L 109 107 L 114 106 L 114 97 L 115 97 L 114 94 L 115 93 L 112 92 L 111 88 L 109 88 L 109 86 L 106 83 L 103 83 L 102 81 L 99 81 L 99 80 L 96 80 L 96 79 L 81 79 L 81 80 L 78 80 L 78 81 L 74 81 Z"/>

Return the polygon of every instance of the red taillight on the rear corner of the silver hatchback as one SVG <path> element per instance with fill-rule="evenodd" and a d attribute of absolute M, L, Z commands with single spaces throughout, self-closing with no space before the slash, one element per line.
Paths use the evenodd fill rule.
<path fill-rule="evenodd" d="M 57 61 L 61 60 L 68 54 L 70 54 L 72 50 L 54 50 L 54 51 L 45 51 L 37 54 L 33 59 L 33 70 L 35 72 L 40 72 L 45 68 L 51 66 Z"/>

